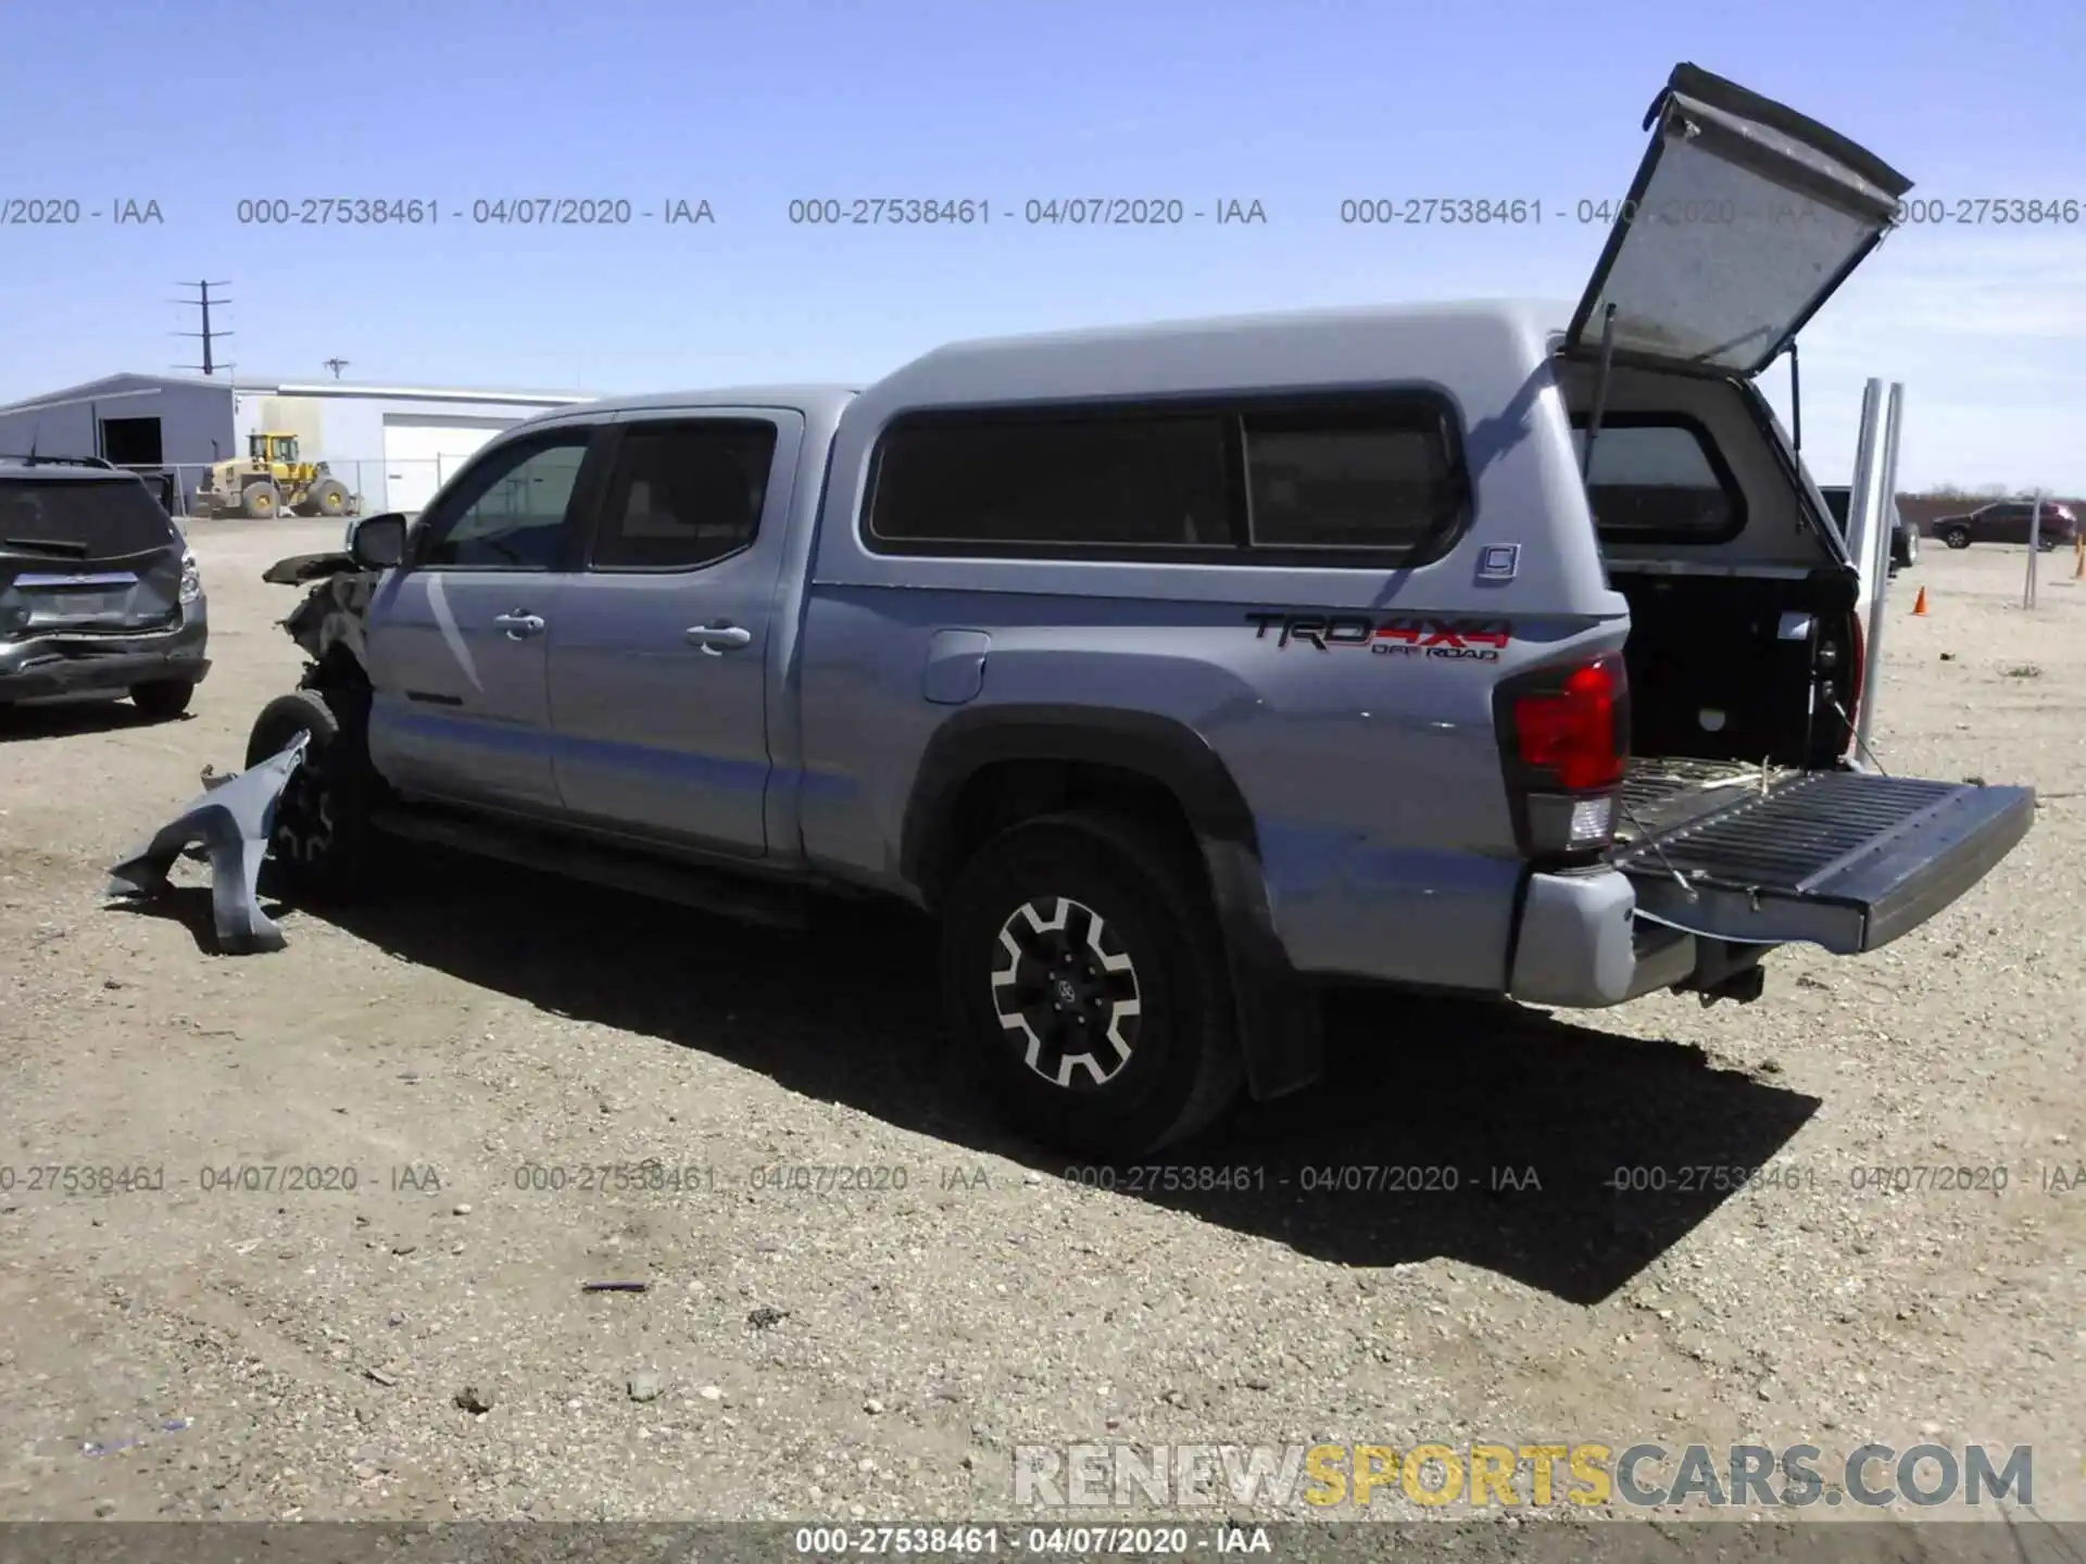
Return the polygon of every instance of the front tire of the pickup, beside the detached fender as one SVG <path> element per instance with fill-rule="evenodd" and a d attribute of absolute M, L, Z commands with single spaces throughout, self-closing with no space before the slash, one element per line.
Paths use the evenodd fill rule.
<path fill-rule="evenodd" d="M 365 884 L 375 784 L 365 724 L 363 701 L 353 690 L 292 690 L 254 717 L 246 738 L 248 767 L 280 755 L 300 732 L 311 734 L 275 805 L 269 836 L 269 865 L 288 895 L 346 897 Z"/>

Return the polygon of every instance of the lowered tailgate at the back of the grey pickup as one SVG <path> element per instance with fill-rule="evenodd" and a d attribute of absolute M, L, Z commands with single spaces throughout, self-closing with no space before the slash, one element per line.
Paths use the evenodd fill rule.
<path fill-rule="evenodd" d="M 1635 797 L 1633 797 L 1635 786 Z M 1638 911 L 1711 938 L 1873 951 L 1982 880 L 2036 817 L 2034 788 L 1802 772 L 1675 801 L 1625 784 L 1610 861 Z"/>

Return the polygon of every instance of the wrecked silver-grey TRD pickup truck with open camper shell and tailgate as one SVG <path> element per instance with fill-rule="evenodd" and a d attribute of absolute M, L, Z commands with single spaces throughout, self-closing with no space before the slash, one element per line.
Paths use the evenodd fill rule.
<path fill-rule="evenodd" d="M 1648 123 L 1577 309 L 968 342 L 513 430 L 275 569 L 317 582 L 250 742 L 313 738 L 275 857 L 903 899 L 1016 1122 L 1108 1157 L 1310 1082 L 1318 984 L 1748 1001 L 1777 945 L 1898 938 L 2034 797 L 1854 763 L 1869 567 L 1754 380 L 1909 181 L 1685 65 Z"/>

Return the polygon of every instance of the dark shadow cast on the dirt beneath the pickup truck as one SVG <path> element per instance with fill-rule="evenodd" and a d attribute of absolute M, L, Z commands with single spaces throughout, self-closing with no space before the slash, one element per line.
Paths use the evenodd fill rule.
<path fill-rule="evenodd" d="M 207 945 L 207 895 L 181 901 L 161 905 Z M 1164 1168 L 1097 1174 L 999 1126 L 941 1043 L 926 922 L 884 905 L 776 934 L 426 853 L 384 901 L 290 913 L 292 943 L 305 918 L 947 1143 L 955 1155 L 912 1170 L 916 1189 L 985 1166 L 964 1151 L 995 1153 L 1335 1264 L 1444 1255 L 1573 1303 L 1608 1297 L 1717 1214 L 1819 1107 L 1698 1049 L 1517 1005 L 1337 995 L 1323 1084 L 1245 1107 Z"/>

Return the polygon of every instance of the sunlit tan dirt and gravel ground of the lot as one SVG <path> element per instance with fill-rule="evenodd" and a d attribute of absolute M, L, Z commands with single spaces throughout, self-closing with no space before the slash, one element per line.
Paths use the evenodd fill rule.
<path fill-rule="evenodd" d="M 972 1105 L 903 924 L 784 938 L 436 859 L 263 957 L 209 953 L 198 865 L 104 905 L 296 674 L 261 567 L 334 536 L 198 523 L 219 661 L 188 719 L 0 730 L 0 1518 L 991 1518 L 1016 1445 L 1089 1439 L 2030 1443 L 2036 1510 L 2086 1514 L 2069 555 L 2032 615 L 2019 551 L 1900 578 L 1884 765 L 2044 795 L 1932 924 L 1781 953 L 1748 1007 L 1348 1007 L 1333 1082 L 1193 1153 L 1256 1189 L 1103 1193 Z M 647 1157 L 711 1172 L 517 1187 Z M 768 1164 L 884 1187 L 749 1187 Z M 1304 1191 L 1335 1164 L 1464 1182 Z M 1779 1187 L 1604 1187 L 1763 1164 Z M 1944 1166 L 2007 1187 L 1863 1174 Z"/>

